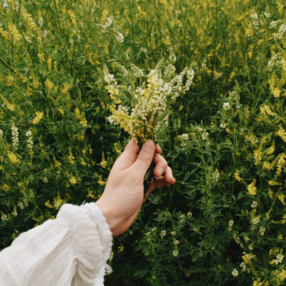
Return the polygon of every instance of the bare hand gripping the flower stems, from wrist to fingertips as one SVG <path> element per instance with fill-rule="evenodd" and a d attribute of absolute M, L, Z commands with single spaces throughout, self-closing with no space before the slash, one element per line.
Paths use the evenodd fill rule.
<path fill-rule="evenodd" d="M 158 144 L 155 146 L 152 140 L 147 140 L 139 154 L 138 150 L 138 144 L 130 140 L 114 162 L 102 196 L 95 202 L 106 217 L 113 237 L 132 225 L 144 203 L 143 181 L 153 158 L 154 175 L 158 178 L 150 183 L 146 198 L 157 186 L 172 185 L 176 181 L 172 169 L 159 155 L 162 150 Z"/>

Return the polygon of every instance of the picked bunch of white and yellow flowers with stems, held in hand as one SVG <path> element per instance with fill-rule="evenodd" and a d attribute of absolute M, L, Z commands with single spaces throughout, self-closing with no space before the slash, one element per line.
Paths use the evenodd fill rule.
<path fill-rule="evenodd" d="M 103 66 L 105 88 L 112 100 L 112 104 L 108 104 L 111 115 L 106 119 L 124 128 L 140 148 L 148 139 L 162 142 L 157 137 L 168 125 L 172 104 L 192 84 L 194 70 L 185 67 L 176 75 L 175 60 L 176 56 L 170 50 L 169 58 L 162 58 L 149 73 L 144 73 L 134 64 L 126 69 L 115 63 L 120 71 L 117 73 L 118 79 L 108 72 L 106 65 Z M 156 179 L 153 170 L 152 163 L 144 178 L 144 196 L 148 182 Z"/>

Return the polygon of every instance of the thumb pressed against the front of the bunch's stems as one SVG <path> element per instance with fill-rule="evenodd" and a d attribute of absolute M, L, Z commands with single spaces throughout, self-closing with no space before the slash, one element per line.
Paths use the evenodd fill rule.
<path fill-rule="evenodd" d="M 155 143 L 152 140 L 147 140 L 143 146 L 141 151 L 139 152 L 136 161 L 132 164 L 132 168 L 139 173 L 139 175 L 146 174 L 155 154 Z"/>

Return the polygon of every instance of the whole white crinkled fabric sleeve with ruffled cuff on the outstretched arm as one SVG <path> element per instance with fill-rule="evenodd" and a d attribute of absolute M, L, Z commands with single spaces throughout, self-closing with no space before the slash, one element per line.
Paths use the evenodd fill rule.
<path fill-rule="evenodd" d="M 63 204 L 56 219 L 0 252 L 0 285 L 102 286 L 111 247 L 109 225 L 94 202 Z"/>

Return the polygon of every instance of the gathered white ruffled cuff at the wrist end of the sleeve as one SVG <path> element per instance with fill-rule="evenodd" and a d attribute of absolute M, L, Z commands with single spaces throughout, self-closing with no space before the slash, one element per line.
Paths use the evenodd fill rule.
<path fill-rule="evenodd" d="M 111 272 L 106 264 L 112 247 L 112 233 L 100 208 L 94 203 L 81 206 L 64 204 L 57 219 L 70 226 L 77 261 L 72 285 L 103 286 L 104 275 Z"/>

